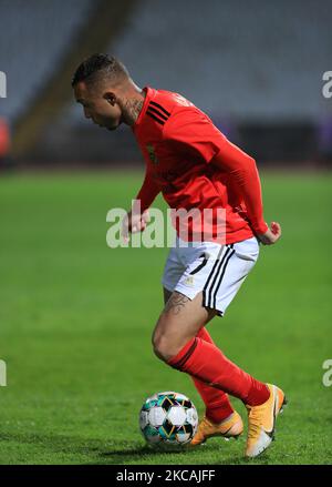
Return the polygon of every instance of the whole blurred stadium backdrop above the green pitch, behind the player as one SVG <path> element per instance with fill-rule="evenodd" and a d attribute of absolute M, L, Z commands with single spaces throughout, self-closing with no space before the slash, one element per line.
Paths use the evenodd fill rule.
<path fill-rule="evenodd" d="M 111 52 L 137 84 L 178 91 L 259 163 L 331 164 L 331 2 L 1 0 L 1 116 L 18 164 L 136 163 L 129 131 L 93 130 L 73 104 L 84 57 Z"/>

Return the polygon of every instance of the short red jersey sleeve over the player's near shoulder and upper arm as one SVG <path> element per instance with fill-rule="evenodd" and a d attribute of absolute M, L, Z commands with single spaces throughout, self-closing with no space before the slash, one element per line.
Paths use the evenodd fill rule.
<path fill-rule="evenodd" d="M 209 163 L 218 154 L 225 135 L 196 106 L 174 113 L 164 128 L 168 148 Z"/>

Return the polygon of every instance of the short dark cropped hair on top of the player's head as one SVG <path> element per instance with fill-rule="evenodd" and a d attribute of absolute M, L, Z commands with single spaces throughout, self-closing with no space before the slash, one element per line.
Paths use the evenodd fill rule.
<path fill-rule="evenodd" d="M 72 78 L 72 87 L 74 88 L 81 81 L 92 85 L 103 79 L 117 82 L 125 78 L 129 78 L 129 73 L 121 61 L 114 55 L 98 53 L 81 62 Z"/>

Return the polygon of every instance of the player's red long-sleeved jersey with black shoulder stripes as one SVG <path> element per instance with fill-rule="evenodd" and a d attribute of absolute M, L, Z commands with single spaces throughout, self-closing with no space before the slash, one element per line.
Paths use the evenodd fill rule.
<path fill-rule="evenodd" d="M 146 161 L 136 199 L 142 212 L 162 192 L 172 209 L 224 209 L 226 243 L 268 230 L 255 161 L 178 93 L 144 88 L 143 109 L 133 125 Z M 253 161 L 253 165 L 252 165 Z"/>

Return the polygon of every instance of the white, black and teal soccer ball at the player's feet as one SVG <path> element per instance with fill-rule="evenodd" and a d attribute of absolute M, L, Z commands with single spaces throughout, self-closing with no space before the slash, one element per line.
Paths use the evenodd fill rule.
<path fill-rule="evenodd" d="M 147 444 L 177 449 L 188 444 L 197 432 L 198 415 L 193 402 L 175 392 L 148 397 L 139 414 L 141 432 Z"/>

